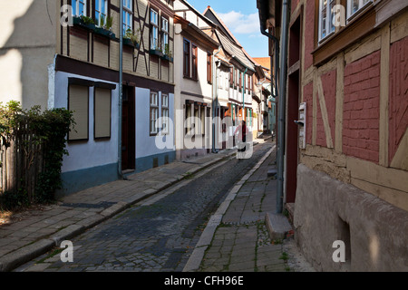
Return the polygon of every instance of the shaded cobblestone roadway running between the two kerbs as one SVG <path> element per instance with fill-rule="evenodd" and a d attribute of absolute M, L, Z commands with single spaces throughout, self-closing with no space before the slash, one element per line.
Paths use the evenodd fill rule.
<path fill-rule="evenodd" d="M 73 238 L 73 263 L 55 248 L 16 271 L 182 271 L 210 214 L 271 146 L 221 161 Z"/>

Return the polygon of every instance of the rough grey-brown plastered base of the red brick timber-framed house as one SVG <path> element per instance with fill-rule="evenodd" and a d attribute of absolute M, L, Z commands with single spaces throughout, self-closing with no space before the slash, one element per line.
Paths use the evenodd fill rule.
<path fill-rule="evenodd" d="M 319 271 L 408 271 L 408 212 L 304 164 L 297 167 L 296 243 Z M 335 240 L 345 263 L 334 262 Z"/>

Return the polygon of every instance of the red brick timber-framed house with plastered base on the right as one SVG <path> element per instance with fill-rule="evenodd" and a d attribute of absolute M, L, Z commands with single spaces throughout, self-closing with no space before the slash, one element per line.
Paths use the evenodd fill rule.
<path fill-rule="evenodd" d="M 259 11 L 269 31 L 282 2 Z M 407 4 L 287 4 L 284 201 L 297 244 L 318 270 L 406 271 Z"/>

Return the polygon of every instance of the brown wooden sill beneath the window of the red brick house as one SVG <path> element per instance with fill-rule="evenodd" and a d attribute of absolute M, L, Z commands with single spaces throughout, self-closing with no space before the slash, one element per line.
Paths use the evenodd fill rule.
<path fill-rule="evenodd" d="M 355 15 L 353 21 L 341 27 L 335 34 L 328 35 L 324 41 L 318 44 L 312 52 L 313 64 L 320 66 L 327 62 L 355 42 L 361 40 L 364 36 L 374 30 L 375 9 L 371 5 L 362 13 Z"/>

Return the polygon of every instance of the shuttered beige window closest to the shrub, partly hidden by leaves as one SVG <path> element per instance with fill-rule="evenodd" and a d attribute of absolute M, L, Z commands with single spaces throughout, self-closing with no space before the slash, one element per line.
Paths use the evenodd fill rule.
<path fill-rule="evenodd" d="M 70 84 L 68 88 L 68 109 L 73 111 L 75 127 L 71 128 L 68 140 L 88 140 L 89 87 Z"/>

